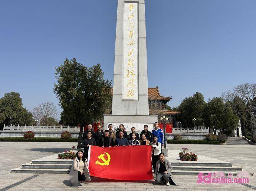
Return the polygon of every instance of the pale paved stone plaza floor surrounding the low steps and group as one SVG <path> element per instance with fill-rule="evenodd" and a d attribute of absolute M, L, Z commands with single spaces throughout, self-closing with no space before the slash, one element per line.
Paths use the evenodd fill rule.
<path fill-rule="evenodd" d="M 74 190 L 70 187 L 68 174 L 20 174 L 10 173 L 31 160 L 46 157 L 70 149 L 75 143 L 53 142 L 1 142 L 0 190 Z M 256 147 L 233 145 L 168 144 L 168 149 L 186 146 L 196 154 L 233 163 L 243 171 L 256 172 Z M 15 160 L 16 159 L 16 160 Z M 200 159 L 199 159 L 200 160 Z M 135 172 L 136 173 L 136 172 Z M 179 186 L 157 185 L 154 181 L 123 182 L 92 178 L 78 190 L 256 190 L 256 178 L 250 177 L 249 184 L 200 184 L 196 175 L 174 175 Z M 250 188 L 252 186 L 252 188 Z M 253 188 L 254 187 L 254 188 Z"/>

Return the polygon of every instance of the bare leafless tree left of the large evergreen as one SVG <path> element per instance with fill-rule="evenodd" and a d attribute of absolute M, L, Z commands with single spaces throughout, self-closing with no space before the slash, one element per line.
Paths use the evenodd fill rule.
<path fill-rule="evenodd" d="M 48 117 L 57 117 L 57 109 L 53 102 L 40 103 L 33 109 L 33 116 L 40 124 L 47 125 L 46 120 Z"/>

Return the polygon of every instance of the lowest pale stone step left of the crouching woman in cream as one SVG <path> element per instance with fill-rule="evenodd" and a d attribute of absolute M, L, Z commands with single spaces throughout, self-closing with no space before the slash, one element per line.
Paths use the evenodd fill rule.
<path fill-rule="evenodd" d="M 14 168 L 12 173 L 30 173 L 30 174 L 69 174 L 69 169 L 33 169 L 33 168 Z"/>

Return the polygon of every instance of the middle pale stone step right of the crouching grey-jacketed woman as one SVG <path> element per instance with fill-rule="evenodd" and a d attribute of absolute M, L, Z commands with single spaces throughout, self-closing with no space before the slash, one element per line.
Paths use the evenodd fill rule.
<path fill-rule="evenodd" d="M 173 166 L 179 171 L 242 171 L 239 167 L 210 167 L 210 166 Z"/>

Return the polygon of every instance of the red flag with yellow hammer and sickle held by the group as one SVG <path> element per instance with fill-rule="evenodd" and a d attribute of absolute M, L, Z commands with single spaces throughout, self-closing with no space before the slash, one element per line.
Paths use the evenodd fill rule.
<path fill-rule="evenodd" d="M 89 146 L 91 176 L 114 180 L 152 180 L 151 146 Z"/>

